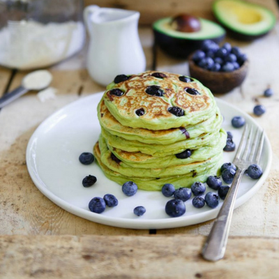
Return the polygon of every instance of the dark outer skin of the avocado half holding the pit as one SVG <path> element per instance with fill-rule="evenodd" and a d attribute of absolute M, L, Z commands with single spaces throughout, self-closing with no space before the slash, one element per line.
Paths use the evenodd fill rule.
<path fill-rule="evenodd" d="M 202 40 L 190 40 L 187 38 L 174 38 L 172 36 L 168 36 L 165 33 L 161 33 L 155 29 L 153 29 L 155 45 L 159 46 L 166 54 L 169 56 L 173 56 L 175 58 L 183 58 L 187 59 L 188 56 L 195 52 L 195 50 L 199 50 L 202 47 L 202 43 L 205 39 Z M 225 34 L 218 38 L 213 38 L 216 43 L 220 43 L 225 38 Z"/>

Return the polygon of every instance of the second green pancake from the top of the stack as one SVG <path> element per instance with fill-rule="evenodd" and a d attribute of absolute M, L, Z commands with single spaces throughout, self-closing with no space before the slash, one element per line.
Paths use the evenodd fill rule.
<path fill-rule="evenodd" d="M 186 138 L 195 138 L 204 133 L 211 133 L 218 130 L 223 121 L 220 110 L 216 107 L 216 113 L 209 119 L 197 123 L 196 125 L 170 128 L 168 130 L 148 130 L 144 128 L 130 128 L 123 126 L 117 121 L 105 106 L 104 100 L 98 104 L 98 119 L 100 125 L 108 133 L 123 137 L 126 140 L 137 140 L 146 144 L 172 144 L 185 140 Z"/>

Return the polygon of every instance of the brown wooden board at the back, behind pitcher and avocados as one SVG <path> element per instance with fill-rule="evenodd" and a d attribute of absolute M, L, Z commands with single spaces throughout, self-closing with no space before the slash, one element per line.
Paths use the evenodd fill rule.
<path fill-rule="evenodd" d="M 250 0 L 269 8 L 278 17 L 278 5 L 276 0 Z M 197 17 L 215 20 L 211 11 L 213 0 L 85 0 L 85 5 L 98 5 L 108 8 L 123 8 L 138 10 L 140 12 L 140 24 L 152 24 L 162 17 L 171 17 L 181 13 L 188 13 Z"/>

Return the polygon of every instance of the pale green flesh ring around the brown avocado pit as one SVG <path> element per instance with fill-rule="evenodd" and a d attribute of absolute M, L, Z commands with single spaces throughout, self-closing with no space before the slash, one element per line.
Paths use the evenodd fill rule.
<path fill-rule="evenodd" d="M 187 38 L 189 40 L 206 40 L 222 37 L 225 35 L 225 29 L 220 27 L 220 25 L 216 24 L 215 22 L 204 20 L 202 18 L 199 18 L 199 21 L 201 23 L 201 29 L 196 32 L 188 33 L 172 29 L 170 24 L 172 22 L 172 17 L 165 17 L 161 20 L 157 20 L 153 24 L 153 29 L 160 33 L 165 33 L 167 36 L 173 38 Z"/>

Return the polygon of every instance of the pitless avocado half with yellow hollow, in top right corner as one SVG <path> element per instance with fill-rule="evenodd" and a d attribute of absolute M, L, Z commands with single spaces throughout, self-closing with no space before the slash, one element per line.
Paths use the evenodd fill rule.
<path fill-rule="evenodd" d="M 269 33 L 276 24 L 271 10 L 241 0 L 216 0 L 213 14 L 218 22 L 240 40 L 254 40 Z"/>

